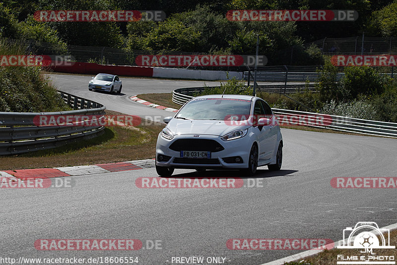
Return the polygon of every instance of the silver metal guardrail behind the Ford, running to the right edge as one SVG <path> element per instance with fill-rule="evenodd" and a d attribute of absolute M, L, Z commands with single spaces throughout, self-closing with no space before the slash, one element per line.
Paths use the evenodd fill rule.
<path fill-rule="evenodd" d="M 194 98 L 191 96 L 193 93 L 201 92 L 205 87 L 193 87 L 193 88 L 178 88 L 172 93 L 172 101 L 179 105 L 184 105 L 186 102 Z M 283 109 L 272 109 L 274 115 L 280 119 L 282 124 L 287 119 L 287 124 L 299 124 L 310 127 L 325 128 L 335 131 L 349 132 L 349 133 L 360 133 L 367 135 L 378 135 L 397 138 L 397 123 L 370 121 L 363 119 L 355 119 L 349 117 L 342 117 L 336 115 L 327 115 L 330 120 L 325 121 L 326 125 L 310 125 L 307 121 L 299 119 L 299 117 L 313 117 L 316 118 L 319 113 L 303 112 L 294 110 L 283 110 Z"/>

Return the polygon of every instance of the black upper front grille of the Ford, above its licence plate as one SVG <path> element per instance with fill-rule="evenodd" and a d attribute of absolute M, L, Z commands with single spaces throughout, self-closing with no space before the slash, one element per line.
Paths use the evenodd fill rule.
<path fill-rule="evenodd" d="M 211 153 L 224 150 L 222 145 L 210 139 L 178 139 L 170 145 L 174 151 L 210 151 Z"/>

